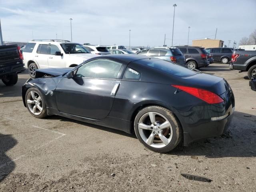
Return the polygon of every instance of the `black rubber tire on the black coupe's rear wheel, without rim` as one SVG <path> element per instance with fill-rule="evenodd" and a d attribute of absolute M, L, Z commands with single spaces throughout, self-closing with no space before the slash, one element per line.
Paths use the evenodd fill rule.
<path fill-rule="evenodd" d="M 152 146 L 148 145 L 143 140 L 142 136 L 140 135 L 139 128 L 138 128 L 138 123 L 139 123 L 141 118 L 143 118 L 145 115 L 147 115 L 148 112 L 156 112 L 158 114 L 161 114 L 162 116 L 164 116 L 170 122 L 170 125 L 171 125 L 171 128 L 172 128 L 172 138 L 170 139 L 169 144 L 166 144 L 166 146 L 164 146 L 162 148 L 156 148 L 156 147 L 152 147 Z M 155 116 L 155 118 L 157 118 L 157 115 Z M 149 124 L 151 124 L 151 122 Z M 151 126 L 151 125 L 149 125 L 149 126 Z M 151 129 L 152 129 L 152 127 L 151 127 Z M 160 107 L 160 106 L 148 106 L 148 107 L 143 108 L 142 110 L 140 110 L 140 112 L 138 112 L 138 114 L 136 115 L 136 118 L 134 120 L 134 131 L 135 131 L 135 134 L 136 134 L 138 140 L 146 148 L 148 148 L 148 149 L 150 149 L 154 152 L 158 152 L 158 153 L 166 153 L 166 152 L 170 152 L 171 150 L 173 150 L 180 143 L 180 141 L 182 140 L 182 135 L 183 135 L 182 127 L 180 125 L 180 122 L 176 118 L 176 116 L 170 110 L 168 110 L 166 108 L 163 108 L 163 107 Z M 153 129 L 152 130 L 145 130 L 145 131 L 148 131 L 149 132 L 148 134 L 150 134 L 150 132 L 152 134 Z M 158 138 L 159 138 L 159 136 L 158 136 Z M 155 141 L 155 143 L 157 144 L 156 141 Z M 153 143 L 153 144 L 155 144 L 155 143 Z"/>

